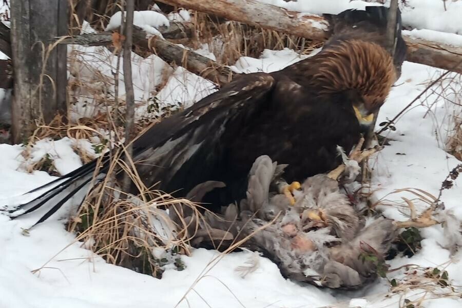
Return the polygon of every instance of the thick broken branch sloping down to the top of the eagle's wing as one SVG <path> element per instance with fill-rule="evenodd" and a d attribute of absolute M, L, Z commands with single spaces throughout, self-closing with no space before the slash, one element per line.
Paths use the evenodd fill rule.
<path fill-rule="evenodd" d="M 166 62 L 181 65 L 190 72 L 220 85 L 228 83 L 233 76 L 233 71 L 229 68 L 194 51 L 186 50 L 156 36 L 146 39 L 146 32 L 136 26 L 133 27 L 133 45 L 151 51 Z"/>

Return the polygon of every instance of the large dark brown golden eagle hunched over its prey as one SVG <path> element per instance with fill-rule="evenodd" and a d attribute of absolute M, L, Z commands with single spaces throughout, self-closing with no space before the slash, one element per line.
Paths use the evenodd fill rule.
<path fill-rule="evenodd" d="M 394 56 L 384 48 L 387 12 L 367 7 L 326 15 L 331 38 L 318 54 L 277 72 L 238 76 L 150 127 L 133 143 L 133 160 L 146 186 L 159 182 L 156 188 L 185 196 L 199 183 L 221 181 L 226 187 L 204 200 L 222 205 L 244 196 L 248 172 L 261 155 L 288 164 L 287 181 L 335 168 L 341 161 L 337 145 L 349 151 L 358 142 L 405 58 L 399 16 Z M 37 188 L 54 185 L 37 199 L 8 208 L 10 216 L 54 203 L 42 222 L 91 181 L 96 165 L 90 162 Z M 106 159 L 100 174 L 108 165 Z M 74 183 L 77 187 L 66 192 Z"/>

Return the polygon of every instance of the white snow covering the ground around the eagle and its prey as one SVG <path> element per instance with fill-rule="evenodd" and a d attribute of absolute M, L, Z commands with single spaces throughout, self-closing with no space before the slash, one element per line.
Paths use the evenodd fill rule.
<path fill-rule="evenodd" d="M 351 3 L 340 0 L 330 1 L 339 5 L 339 11 L 347 6 L 364 4 L 359 1 Z M 326 1 L 313 1 L 317 6 L 309 5 L 308 1 L 302 0 L 288 3 L 282 0 L 264 0 L 264 2 L 285 6 L 298 5 L 299 9 L 300 6 L 306 5 L 306 8 L 303 7 L 304 9 L 300 11 L 333 13 L 332 6 Z M 431 10 L 436 10 L 437 6 L 433 4 L 439 1 L 412 0 L 409 3 L 426 8 L 425 12 L 429 14 Z M 437 12 L 439 13 L 440 9 L 444 12 L 442 2 L 439 5 L 441 8 L 438 6 Z M 448 11 L 458 8 L 458 14 L 462 13 L 462 1 L 448 1 L 447 6 Z M 439 31 L 460 31 L 456 29 L 455 22 L 438 25 L 438 18 L 442 18 L 438 13 L 434 14 L 436 17 L 432 19 L 433 21 L 430 18 L 427 20 L 419 18 L 420 26 Z M 411 17 L 404 15 L 403 18 L 405 20 L 407 18 L 411 24 Z M 100 52 L 97 48 L 80 51 L 82 56 L 87 56 L 86 61 Z M 111 54 L 103 54 L 101 59 L 94 61 L 98 64 L 93 63 L 91 67 L 94 68 L 107 59 L 110 59 L 109 65 L 101 64 L 98 69 L 111 76 L 111 69 L 116 61 Z M 155 92 L 155 85 L 161 81 L 160 71 L 166 64 L 155 56 L 138 59 L 137 55 L 133 55 L 133 59 L 133 66 L 139 72 L 133 74 L 137 99 L 147 101 L 149 95 Z M 301 59 L 298 53 L 291 50 L 265 50 L 261 59 L 243 57 L 233 69 L 243 72 L 274 71 Z M 76 69 L 79 69 L 84 76 L 91 76 L 92 71 L 85 72 L 84 67 L 78 66 Z M 441 74 L 439 69 L 405 62 L 401 78 L 396 82 L 389 99 L 381 108 L 377 123 L 392 119 L 438 74 Z M 121 87 L 123 95 L 123 83 Z M 458 103 L 461 103 L 462 84 L 454 83 L 452 87 L 454 90 L 449 91 L 446 98 L 451 101 L 459 100 Z M 208 81 L 187 73 L 182 68 L 176 69 L 171 74 L 164 89 L 166 88 L 168 90 L 155 93 L 159 100 L 167 103 L 180 101 L 186 105 L 214 90 Z M 448 133 L 454 125 L 452 114 L 460 113 L 460 108 L 449 100 L 439 97 L 437 93 L 430 93 L 431 91 L 429 95 L 424 95 L 425 99 L 415 102 L 413 107 L 399 118 L 395 123 L 396 131 L 388 132 L 388 136 L 394 141 L 371 159 L 372 185 L 373 189 L 377 189 L 372 197 L 373 200 L 386 198 L 388 203 L 402 202 L 401 197 L 409 197 L 408 193 L 388 194 L 394 189 L 406 187 L 419 188 L 437 196 L 441 182 L 448 172 L 460 163 L 444 149 Z M 140 114 L 146 110 L 141 109 L 146 108 L 143 106 L 140 105 Z M 75 112 L 81 110 L 76 107 Z M 65 138 L 38 143 L 31 150 L 31 156 L 25 158 L 22 156 L 24 148 L 20 145 L 0 144 L 0 174 L 2 175 L 0 206 L 8 203 L 11 198 L 54 179 L 44 171 L 34 171 L 32 174 L 25 172 L 25 165 L 36 161 L 45 153 L 56 162 L 56 168 L 60 172 L 68 172 L 81 165 L 72 146 L 91 150 L 88 141 Z M 458 219 L 462 219 L 460 185 L 462 185 L 462 177 L 459 177 L 452 189 L 444 190 L 441 198 L 446 210 L 452 210 Z M 383 205 L 381 209 L 390 218 L 407 219 L 400 211 L 402 207 Z M 422 208 L 418 207 L 418 209 Z M 355 292 L 334 292 L 312 285 L 300 285 L 282 278 L 277 266 L 262 257 L 257 271 L 241 278 L 239 273 L 235 272 L 235 268 L 243 265 L 252 253 L 240 252 L 221 256 L 216 251 L 205 249 L 196 249 L 191 257 L 183 256 L 186 265 L 183 271 L 167 269 L 163 278 L 158 280 L 105 263 L 101 257 L 82 247 L 82 243 L 75 242 L 75 236 L 65 231 L 64 221 L 50 219 L 36 226 L 30 234 L 23 234 L 23 228 L 29 227 L 36 219 L 36 216 L 31 215 L 9 220 L 0 215 L 0 247 L 2 247 L 0 308 L 143 308 L 174 307 L 177 304 L 179 307 L 193 308 L 324 306 L 381 308 L 402 307 L 405 306 L 402 304 L 405 298 L 412 300 L 422 296 L 417 294 L 419 291 L 413 291 L 406 295 L 386 297 L 390 290 L 390 282 L 386 279 L 380 279 Z M 449 273 L 450 281 L 454 285 L 462 285 L 462 263 L 459 261 L 462 252 L 454 256 L 450 255 L 449 249 L 445 248 L 449 244 L 448 238 L 439 225 L 422 229 L 421 232 L 424 237 L 422 249 L 411 258 L 399 257 L 389 261 L 391 267 L 396 268 L 411 263 L 431 267 L 444 266 Z M 35 272 L 34 269 L 39 270 Z M 388 278 L 399 279 L 402 275 L 402 271 L 396 271 L 390 273 Z M 356 299 L 352 300 L 352 298 Z M 460 298 L 433 300 L 430 298 L 431 295 L 428 294 L 421 305 L 427 308 L 462 307 Z"/>

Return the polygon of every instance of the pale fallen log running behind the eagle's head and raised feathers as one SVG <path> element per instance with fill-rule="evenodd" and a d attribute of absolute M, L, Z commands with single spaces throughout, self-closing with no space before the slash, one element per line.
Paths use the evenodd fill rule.
<path fill-rule="evenodd" d="M 228 20 L 324 41 L 327 21 L 318 15 L 288 11 L 256 0 L 158 0 Z M 462 73 L 462 47 L 414 39 L 403 35 L 409 46 L 407 60 Z"/>

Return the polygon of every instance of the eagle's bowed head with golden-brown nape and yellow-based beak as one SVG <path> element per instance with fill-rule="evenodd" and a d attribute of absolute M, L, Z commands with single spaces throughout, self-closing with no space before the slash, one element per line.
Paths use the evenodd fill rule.
<path fill-rule="evenodd" d="M 318 61 L 313 80 L 320 94 L 341 94 L 352 103 L 359 123 L 371 124 L 396 80 L 391 55 L 375 43 L 350 40 L 323 50 Z"/>

